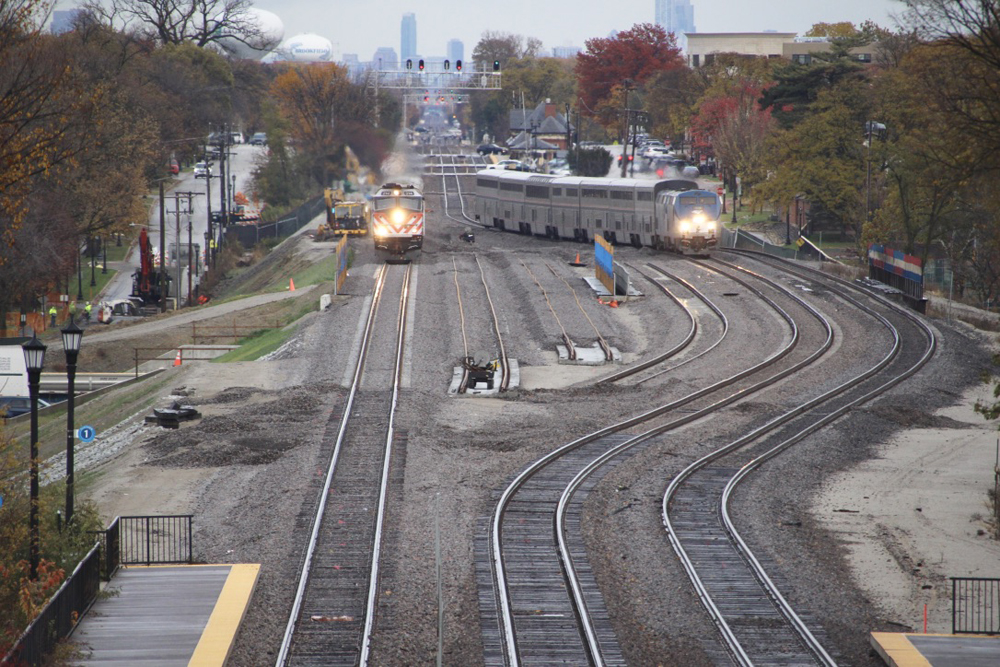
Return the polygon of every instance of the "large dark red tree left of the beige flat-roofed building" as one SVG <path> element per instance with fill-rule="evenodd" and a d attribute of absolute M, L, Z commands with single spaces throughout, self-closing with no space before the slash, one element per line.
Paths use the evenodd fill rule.
<path fill-rule="evenodd" d="M 577 90 L 585 113 L 604 109 L 606 127 L 616 122 L 608 101 L 616 90 L 642 86 L 657 72 L 679 69 L 684 61 L 673 34 L 652 23 L 638 23 L 614 37 L 588 39 L 576 56 Z"/>

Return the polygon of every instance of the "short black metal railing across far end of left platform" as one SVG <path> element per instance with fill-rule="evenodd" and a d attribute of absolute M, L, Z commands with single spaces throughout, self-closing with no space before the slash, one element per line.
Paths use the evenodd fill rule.
<path fill-rule="evenodd" d="M 191 514 L 119 517 L 122 565 L 192 563 Z"/>

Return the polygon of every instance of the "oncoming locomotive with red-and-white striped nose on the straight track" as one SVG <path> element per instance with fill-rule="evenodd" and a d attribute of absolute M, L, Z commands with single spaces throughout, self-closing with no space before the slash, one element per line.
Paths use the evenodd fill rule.
<path fill-rule="evenodd" d="M 396 258 L 424 245 L 424 196 L 415 185 L 386 183 L 371 200 L 375 249 Z"/>

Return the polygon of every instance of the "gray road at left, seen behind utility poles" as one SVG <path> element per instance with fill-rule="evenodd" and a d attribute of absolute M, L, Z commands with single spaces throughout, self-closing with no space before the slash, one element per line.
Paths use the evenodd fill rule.
<path fill-rule="evenodd" d="M 255 158 L 263 156 L 266 148 L 250 146 L 249 144 L 237 144 L 229 149 L 229 164 L 226 169 L 226 176 L 230 179 L 230 174 L 236 176 L 236 192 L 246 192 L 250 175 L 253 170 Z M 184 171 L 175 178 L 169 189 L 164 194 L 164 238 L 166 240 L 167 265 L 173 267 L 171 276 L 174 285 L 180 286 L 181 301 L 186 302 L 188 296 L 188 270 L 187 263 L 183 259 L 187 256 L 187 245 L 196 243 L 200 249 L 199 261 L 202 264 L 197 268 L 195 275 L 191 276 L 191 289 L 198 284 L 202 269 L 204 268 L 204 249 L 206 246 L 206 234 L 208 232 L 209 209 L 206 202 L 208 190 L 211 190 L 211 210 L 219 211 L 222 206 L 222 187 L 219 177 L 218 161 L 212 166 L 213 176 L 211 183 L 207 179 L 195 178 L 192 171 Z M 190 196 L 188 193 L 191 193 Z M 231 195 L 230 195 L 231 197 Z M 188 201 L 190 199 L 190 209 Z M 179 206 L 178 206 L 179 204 Z M 228 208 L 228 207 L 227 207 Z M 188 212 L 190 210 L 190 213 Z M 159 247 L 163 243 L 160 239 L 160 205 L 158 198 L 154 197 L 149 207 L 148 229 L 150 242 L 153 244 L 157 261 L 159 261 Z M 190 232 L 190 233 L 189 233 Z M 218 231 L 216 230 L 216 234 Z M 180 241 L 182 264 L 179 269 L 172 258 L 178 255 L 178 237 Z M 124 299 L 132 293 L 132 274 L 139 268 L 139 253 L 133 249 L 124 262 L 117 263 L 114 267 L 118 273 L 108 284 L 102 293 L 102 300 L 113 301 Z M 177 294 L 176 287 L 171 288 L 171 295 Z"/>

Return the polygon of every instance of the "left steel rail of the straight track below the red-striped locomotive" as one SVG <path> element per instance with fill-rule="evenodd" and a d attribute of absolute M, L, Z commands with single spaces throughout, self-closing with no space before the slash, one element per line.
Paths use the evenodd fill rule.
<path fill-rule="evenodd" d="M 378 304 L 382 299 L 382 290 L 385 287 L 385 279 L 388 274 L 388 265 L 383 264 L 375 281 L 375 288 L 372 293 L 372 302 L 368 310 L 368 319 L 365 323 L 364 334 L 361 337 L 361 349 L 358 351 L 358 360 L 354 368 L 354 376 L 351 381 L 351 389 L 347 396 L 347 403 L 344 407 L 344 416 L 340 422 L 340 429 L 337 432 L 337 442 L 334 446 L 333 455 L 330 457 L 330 464 L 327 466 L 326 480 L 323 484 L 323 494 L 320 496 L 319 508 L 313 519 L 313 528 L 309 536 L 309 544 L 306 547 L 305 560 L 302 563 L 302 571 L 299 573 L 299 585 L 295 591 L 295 599 L 292 603 L 292 611 L 288 616 L 288 623 L 285 626 L 285 634 L 281 640 L 281 647 L 278 650 L 278 657 L 275 665 L 284 667 L 288 661 L 288 651 L 291 648 L 292 637 L 298 624 L 299 613 L 302 610 L 302 602 L 305 596 L 306 585 L 309 583 L 309 572 L 312 568 L 313 557 L 316 553 L 316 543 L 319 539 L 320 526 L 323 523 L 323 516 L 326 513 L 325 499 L 330 494 L 330 486 L 333 483 L 333 475 L 337 469 L 337 462 L 344 443 L 344 434 L 347 432 L 347 424 L 350 421 L 351 408 L 354 399 L 357 397 L 358 388 L 361 385 L 361 374 L 365 367 L 365 360 L 368 356 L 368 345 L 372 339 L 374 330 L 375 314 L 378 311 Z"/>

